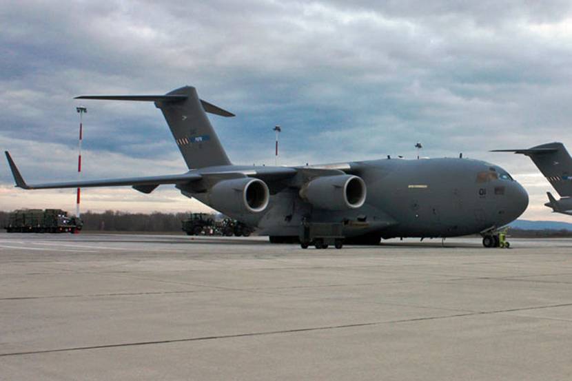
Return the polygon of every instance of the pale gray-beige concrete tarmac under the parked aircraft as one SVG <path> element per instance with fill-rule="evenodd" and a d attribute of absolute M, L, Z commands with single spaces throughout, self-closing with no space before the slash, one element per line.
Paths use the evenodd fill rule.
<path fill-rule="evenodd" d="M 570 380 L 572 240 L 0 234 L 0 380 Z"/>

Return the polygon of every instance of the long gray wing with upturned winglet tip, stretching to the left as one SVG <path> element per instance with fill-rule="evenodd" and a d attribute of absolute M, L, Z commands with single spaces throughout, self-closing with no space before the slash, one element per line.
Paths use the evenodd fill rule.
<path fill-rule="evenodd" d="M 103 180 L 88 180 L 88 181 L 68 181 L 65 183 L 44 183 L 44 184 L 27 184 L 25 183 L 18 167 L 12 160 L 10 153 L 6 151 L 6 158 L 12 170 L 12 176 L 16 186 L 22 189 L 55 189 L 55 188 L 85 188 L 85 187 L 117 187 L 122 185 L 131 185 L 135 189 L 143 193 L 150 193 L 153 189 L 161 184 L 180 184 L 189 183 L 191 181 L 200 180 L 203 176 L 200 174 L 174 174 L 165 176 L 147 176 L 147 177 L 132 177 L 132 178 L 108 178 Z"/>

